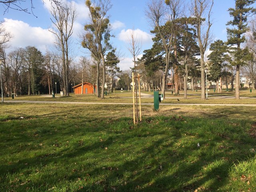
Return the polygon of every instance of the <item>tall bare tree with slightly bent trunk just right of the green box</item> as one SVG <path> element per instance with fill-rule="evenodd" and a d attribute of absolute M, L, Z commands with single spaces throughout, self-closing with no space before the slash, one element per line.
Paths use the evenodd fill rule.
<path fill-rule="evenodd" d="M 162 78 L 162 94 L 164 98 L 166 78 L 169 72 L 170 54 L 174 46 L 174 26 L 181 12 L 180 0 L 166 0 L 165 3 L 162 0 L 151 0 L 145 11 L 152 26 L 158 32 L 165 50 L 165 70 Z M 169 26 L 168 30 L 162 26 L 166 23 Z"/>

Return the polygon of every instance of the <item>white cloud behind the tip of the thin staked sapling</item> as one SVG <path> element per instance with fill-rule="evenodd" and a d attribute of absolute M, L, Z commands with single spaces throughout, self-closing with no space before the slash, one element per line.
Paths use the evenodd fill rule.
<path fill-rule="evenodd" d="M 130 42 L 132 29 L 122 30 L 118 35 L 118 39 L 124 42 Z M 152 36 L 140 29 L 134 30 L 134 36 L 138 41 L 143 43 L 152 42 Z"/>

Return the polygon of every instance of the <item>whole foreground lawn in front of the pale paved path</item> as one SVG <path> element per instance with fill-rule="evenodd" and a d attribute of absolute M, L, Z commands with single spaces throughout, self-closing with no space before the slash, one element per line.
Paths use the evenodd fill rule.
<path fill-rule="evenodd" d="M 1 104 L 0 191 L 256 191 L 256 107 L 142 111 Z"/>

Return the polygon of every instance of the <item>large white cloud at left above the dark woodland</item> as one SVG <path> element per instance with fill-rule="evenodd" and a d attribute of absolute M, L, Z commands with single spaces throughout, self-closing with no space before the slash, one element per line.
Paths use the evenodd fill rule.
<path fill-rule="evenodd" d="M 35 46 L 38 50 L 45 52 L 46 46 L 52 46 L 54 44 L 54 35 L 48 29 L 32 27 L 19 20 L 6 18 L 4 20 L 6 30 L 14 36 L 10 42 L 12 48 Z"/>

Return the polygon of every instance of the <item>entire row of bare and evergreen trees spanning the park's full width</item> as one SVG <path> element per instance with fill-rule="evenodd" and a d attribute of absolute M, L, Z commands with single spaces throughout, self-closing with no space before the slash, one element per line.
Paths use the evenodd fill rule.
<path fill-rule="evenodd" d="M 250 7 L 254 2 L 255 0 L 236 0 L 235 8 L 229 9 L 233 20 L 227 23 L 230 26 L 227 28 L 228 41 L 213 42 L 210 45 L 212 53 L 208 56 L 211 80 L 218 82 L 222 77 L 226 77 L 228 82 L 229 77 L 231 79 L 236 77 L 237 99 L 239 99 L 240 67 L 249 66 L 244 67 L 243 72 L 247 72 L 254 80 L 252 75 L 255 64 L 254 25 L 251 28 L 250 43 L 242 47 L 246 42 L 244 34 L 249 31 L 248 17 L 256 11 Z M 204 55 L 212 40 L 210 28 L 213 3 L 213 0 L 191 0 L 190 9 L 186 10 L 181 0 L 150 0 L 148 2 L 146 16 L 152 26 L 154 44 L 152 48 L 144 50 L 142 58 L 137 60 L 140 45 L 132 32 L 129 48 L 134 62 L 132 71 L 141 74 L 145 89 L 160 87 L 165 96 L 167 83 L 171 82 L 175 87 L 175 94 L 178 95 L 183 82 L 184 98 L 187 98 L 188 80 L 191 81 L 193 88 L 195 79 L 199 77 L 202 87 L 201 99 L 206 99 Z M 102 99 L 105 85 L 109 91 L 112 91 L 114 86 L 130 88 L 130 74 L 120 73 L 117 67 L 120 59 L 116 56 L 113 45 L 110 44 L 112 35 L 108 12 L 112 8 L 111 1 L 86 0 L 85 4 L 89 10 L 89 20 L 84 26 L 81 44 L 90 52 L 91 58 L 82 57 L 79 62 L 75 62 L 70 56 L 76 11 L 71 3 L 54 3 L 51 10 L 51 21 L 54 27 L 49 29 L 56 37 L 54 54 L 47 53 L 42 56 L 36 48 L 28 47 L 17 49 L 6 56 L 4 45 L 10 40 L 11 35 L 7 41 L 2 40 L 4 43 L 1 44 L 1 52 L 6 93 L 17 93 L 17 87 L 23 87 L 24 82 L 27 90 L 23 90 L 28 94 L 35 94 L 40 89 L 39 84 L 47 84 L 50 93 L 50 90 L 54 90 L 52 85 L 56 82 L 54 78 L 58 79 L 61 90 L 66 96 L 69 96 L 70 82 L 74 85 L 84 81 L 92 82 L 97 87 L 97 96 Z M 33 60 L 33 64 L 28 62 L 30 49 L 34 50 L 33 56 L 38 56 L 36 61 Z M 236 73 L 234 73 L 234 66 Z M 11 69 L 9 71 L 12 73 L 12 78 L 6 72 L 8 68 Z M 114 83 L 116 76 L 120 77 L 118 85 Z M 42 78 L 39 80 L 38 77 Z M 12 79 L 11 83 L 10 79 Z"/>

